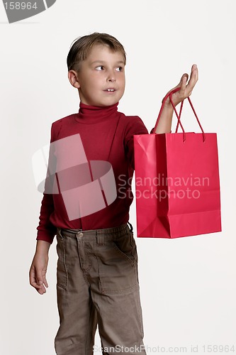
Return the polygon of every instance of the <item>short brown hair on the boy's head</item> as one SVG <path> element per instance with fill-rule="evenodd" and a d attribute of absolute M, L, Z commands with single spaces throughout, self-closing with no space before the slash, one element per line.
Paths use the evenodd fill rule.
<path fill-rule="evenodd" d="M 76 38 L 73 42 L 67 55 L 68 71 L 78 71 L 79 63 L 88 57 L 91 48 L 95 44 L 108 45 L 113 52 L 120 52 L 123 55 L 126 64 L 126 55 L 123 45 L 112 35 L 94 32 L 91 33 L 91 35 L 84 35 L 83 37 Z"/>

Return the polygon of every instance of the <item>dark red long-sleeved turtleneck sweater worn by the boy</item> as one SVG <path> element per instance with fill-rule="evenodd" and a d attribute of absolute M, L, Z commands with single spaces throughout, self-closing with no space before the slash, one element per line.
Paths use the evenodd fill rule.
<path fill-rule="evenodd" d="M 98 212 L 69 220 L 62 195 L 43 194 L 37 240 L 52 243 L 57 227 L 103 229 L 128 222 L 135 168 L 133 135 L 148 131 L 140 117 L 125 116 L 117 107 L 118 103 L 109 107 L 80 103 L 79 113 L 55 121 L 51 129 L 51 143 L 79 133 L 87 160 L 111 163 L 116 179 L 116 200 Z"/>

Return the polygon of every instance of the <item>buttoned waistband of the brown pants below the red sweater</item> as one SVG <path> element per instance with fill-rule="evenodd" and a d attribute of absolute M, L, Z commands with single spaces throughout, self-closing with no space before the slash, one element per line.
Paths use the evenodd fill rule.
<path fill-rule="evenodd" d="M 128 226 L 129 225 L 129 226 Z M 127 233 L 128 229 L 133 232 L 133 226 L 130 222 L 125 224 L 121 224 L 120 226 L 115 226 L 112 228 L 105 228 L 105 229 L 62 229 L 57 228 L 57 235 L 60 238 L 64 236 L 69 236 L 72 238 L 79 238 L 79 239 L 94 239 L 97 236 L 103 236 L 104 239 L 116 239 L 119 236 L 123 236 Z"/>

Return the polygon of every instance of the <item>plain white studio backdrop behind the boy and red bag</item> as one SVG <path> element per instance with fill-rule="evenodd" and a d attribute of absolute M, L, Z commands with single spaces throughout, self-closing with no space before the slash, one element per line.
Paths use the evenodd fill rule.
<path fill-rule="evenodd" d="M 145 344 L 153 348 L 147 354 L 158 354 L 157 346 L 162 353 L 174 346 L 183 354 L 178 347 L 185 346 L 187 354 L 206 354 L 203 345 L 210 344 L 235 345 L 229 354 L 236 354 L 235 11 L 235 0 L 57 0 L 9 24 L 0 4 L 1 354 L 55 354 L 55 242 L 47 293 L 39 295 L 28 282 L 42 198 L 31 157 L 49 143 L 52 121 L 78 111 L 66 58 L 75 38 L 94 31 L 111 33 L 125 46 L 127 85 L 119 110 L 139 115 L 149 131 L 164 94 L 198 65 L 191 99 L 205 131 L 218 133 L 223 232 L 136 238 Z M 183 122 L 186 131 L 198 131 L 187 105 Z M 130 222 L 136 228 L 135 202 Z"/>

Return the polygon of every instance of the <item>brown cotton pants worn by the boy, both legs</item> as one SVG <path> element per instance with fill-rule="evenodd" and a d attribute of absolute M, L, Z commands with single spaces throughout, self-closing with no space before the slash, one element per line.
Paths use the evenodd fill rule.
<path fill-rule="evenodd" d="M 98 351 L 97 324 L 102 354 L 146 354 L 137 250 L 130 226 L 57 229 L 57 355 Z"/>

